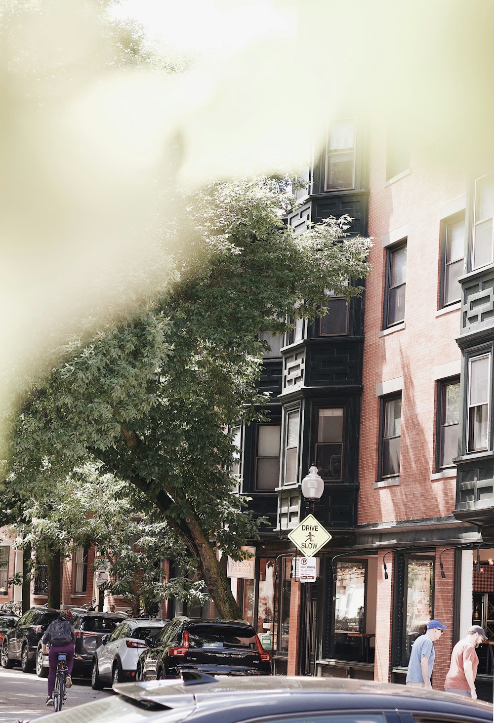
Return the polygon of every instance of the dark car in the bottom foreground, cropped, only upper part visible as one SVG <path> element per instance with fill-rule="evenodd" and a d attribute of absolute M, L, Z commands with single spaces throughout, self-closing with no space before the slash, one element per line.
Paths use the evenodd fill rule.
<path fill-rule="evenodd" d="M 328 677 L 214 678 L 120 683 L 116 695 L 39 719 L 46 723 L 492 723 L 492 704 L 396 683 Z M 110 704 L 108 704 L 110 703 Z"/>

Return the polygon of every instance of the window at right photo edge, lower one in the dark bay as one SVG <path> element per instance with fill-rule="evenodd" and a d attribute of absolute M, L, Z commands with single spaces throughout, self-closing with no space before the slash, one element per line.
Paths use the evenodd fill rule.
<path fill-rule="evenodd" d="M 490 354 L 469 360 L 467 450 L 489 449 Z"/>

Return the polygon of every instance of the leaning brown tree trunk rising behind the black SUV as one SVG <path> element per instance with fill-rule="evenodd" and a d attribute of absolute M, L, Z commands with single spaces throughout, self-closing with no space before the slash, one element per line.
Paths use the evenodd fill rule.
<path fill-rule="evenodd" d="M 218 609 L 219 616 L 223 620 L 239 620 L 242 617 L 239 606 L 235 602 L 226 575 L 223 573 L 214 550 L 204 534 L 200 521 L 195 516 L 191 516 L 185 520 L 185 523 L 197 547 L 200 558 L 200 572 Z"/>

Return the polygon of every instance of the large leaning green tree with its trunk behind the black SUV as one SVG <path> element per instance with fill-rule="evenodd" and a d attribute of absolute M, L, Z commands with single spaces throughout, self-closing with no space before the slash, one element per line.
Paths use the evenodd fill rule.
<path fill-rule="evenodd" d="M 12 489 L 64 479 L 88 457 L 156 505 L 197 560 L 219 615 L 239 610 L 215 555 L 239 557 L 257 525 L 234 494 L 228 425 L 260 418 L 261 329 L 282 333 L 287 315 L 320 314 L 325 289 L 347 299 L 362 287 L 370 242 L 329 219 L 294 235 L 293 205 L 272 179 L 211 184 L 187 198 L 189 238 L 172 221 L 169 286 L 150 281 L 139 313 L 54 350 L 51 372 L 26 382 L 3 455 Z M 167 261 L 168 262 L 168 261 Z"/>

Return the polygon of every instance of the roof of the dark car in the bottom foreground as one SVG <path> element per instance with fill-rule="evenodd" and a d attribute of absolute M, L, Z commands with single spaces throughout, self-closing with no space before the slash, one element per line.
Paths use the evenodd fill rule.
<path fill-rule="evenodd" d="M 311 711 L 327 709 L 331 695 L 332 710 L 362 709 L 411 709 L 443 711 L 469 716 L 475 713 L 480 719 L 492 720 L 492 705 L 483 701 L 459 698 L 438 690 L 424 690 L 396 683 L 377 683 L 373 680 L 319 677 L 223 677 L 213 679 L 201 673 L 184 674 L 186 680 L 153 680 L 143 683 L 114 685 L 114 691 L 142 705 L 161 705 L 163 709 L 203 709 L 212 706 L 218 710 L 229 708 L 234 698 L 235 706 L 249 706 L 248 717 L 283 713 L 296 709 Z M 188 678 L 188 680 L 187 680 Z M 208 682 L 206 682 L 208 681 Z M 269 693 L 270 695 L 265 695 Z M 259 711 L 257 711 L 258 706 Z M 473 709 L 472 709 L 473 706 Z M 268 708 L 270 710 L 268 710 Z M 275 710 L 276 709 L 276 710 Z"/>

